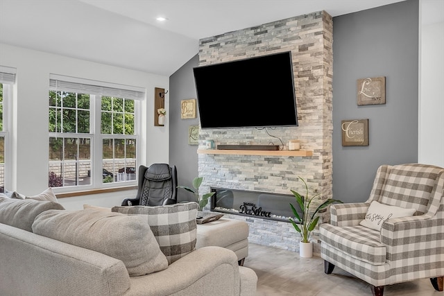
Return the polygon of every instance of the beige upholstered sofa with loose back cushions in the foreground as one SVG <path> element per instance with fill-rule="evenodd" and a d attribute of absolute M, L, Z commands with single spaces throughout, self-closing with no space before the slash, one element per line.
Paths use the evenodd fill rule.
<path fill-rule="evenodd" d="M 152 235 L 141 216 L 0 198 L 0 295 L 255 295 L 231 250 L 167 260 Z"/>

